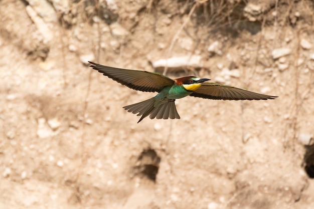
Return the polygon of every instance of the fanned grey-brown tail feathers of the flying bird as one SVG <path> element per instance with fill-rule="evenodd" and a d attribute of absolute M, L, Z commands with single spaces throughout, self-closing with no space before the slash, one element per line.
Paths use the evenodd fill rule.
<path fill-rule="evenodd" d="M 138 102 L 132 105 L 128 105 L 123 107 L 128 112 L 133 114 L 137 114 L 137 116 L 141 115 L 141 118 L 137 123 L 139 123 L 142 119 L 147 117 L 148 115 L 150 119 L 180 119 L 180 116 L 177 112 L 175 100 L 169 100 L 168 102 L 162 103 L 155 107 L 156 99 L 153 97 L 151 99 L 147 99 L 142 102 Z"/>

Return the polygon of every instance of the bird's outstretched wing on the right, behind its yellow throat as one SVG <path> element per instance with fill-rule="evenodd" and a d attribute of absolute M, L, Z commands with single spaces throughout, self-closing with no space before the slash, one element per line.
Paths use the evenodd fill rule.
<path fill-rule="evenodd" d="M 222 100 L 266 100 L 277 97 L 259 94 L 218 83 L 202 83 L 202 86 L 190 94 L 190 96 Z"/>

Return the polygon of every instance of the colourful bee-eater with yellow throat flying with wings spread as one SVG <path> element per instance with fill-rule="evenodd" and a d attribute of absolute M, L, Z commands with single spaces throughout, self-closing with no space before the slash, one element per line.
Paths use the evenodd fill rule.
<path fill-rule="evenodd" d="M 218 83 L 205 83 L 205 81 L 210 80 L 207 78 L 187 76 L 173 80 L 160 73 L 126 70 L 103 66 L 93 62 L 89 63 L 92 64 L 90 67 L 94 70 L 131 89 L 159 92 L 156 96 L 148 100 L 123 107 L 128 112 L 141 116 L 137 123 L 148 115 L 150 119 L 180 119 L 175 100 L 188 95 L 205 99 L 222 100 L 267 100 L 277 97 L 258 94 Z"/>

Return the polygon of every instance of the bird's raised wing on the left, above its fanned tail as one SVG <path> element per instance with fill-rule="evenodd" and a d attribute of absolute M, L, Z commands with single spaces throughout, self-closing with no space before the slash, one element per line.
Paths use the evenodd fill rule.
<path fill-rule="evenodd" d="M 89 62 L 94 70 L 123 84 L 131 89 L 147 92 L 160 92 L 166 86 L 175 84 L 175 81 L 159 73 L 147 71 L 126 70 L 113 68 Z"/>

